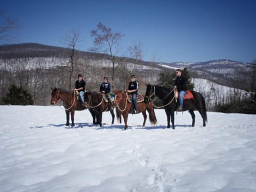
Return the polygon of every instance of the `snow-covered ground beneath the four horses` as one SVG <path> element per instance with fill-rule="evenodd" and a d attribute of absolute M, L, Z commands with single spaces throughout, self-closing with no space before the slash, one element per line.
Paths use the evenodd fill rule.
<path fill-rule="evenodd" d="M 76 111 L 74 129 L 58 107 L 0 106 L 0 191 L 256 191 L 256 115 L 175 115 L 176 129 L 93 126 Z"/>

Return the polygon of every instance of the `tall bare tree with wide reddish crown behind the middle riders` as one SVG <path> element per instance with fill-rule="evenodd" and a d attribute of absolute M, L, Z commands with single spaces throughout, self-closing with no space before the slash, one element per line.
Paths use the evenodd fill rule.
<path fill-rule="evenodd" d="M 119 41 L 123 35 L 119 32 L 114 33 L 110 27 L 106 27 L 100 22 L 96 29 L 91 30 L 91 36 L 94 37 L 94 47 L 92 47 L 91 51 L 110 54 L 112 81 L 114 83 L 116 55 L 119 50 Z"/>

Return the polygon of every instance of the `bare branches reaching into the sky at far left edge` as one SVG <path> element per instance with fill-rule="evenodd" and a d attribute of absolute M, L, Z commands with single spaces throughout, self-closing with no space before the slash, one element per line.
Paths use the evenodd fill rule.
<path fill-rule="evenodd" d="M 18 29 L 20 29 L 20 26 L 14 20 L 5 18 L 3 12 L 0 11 L 0 42 L 14 39 L 13 31 Z"/>

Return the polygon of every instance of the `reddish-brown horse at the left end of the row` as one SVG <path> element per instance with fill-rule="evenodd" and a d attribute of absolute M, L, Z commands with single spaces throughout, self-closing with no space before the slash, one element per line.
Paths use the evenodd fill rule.
<path fill-rule="evenodd" d="M 63 101 L 63 106 L 65 108 L 67 122 L 66 125 L 69 126 L 69 114 L 71 114 L 71 127 L 75 126 L 75 110 L 81 111 L 85 110 L 81 101 L 76 99 L 75 92 L 70 92 L 65 89 L 57 89 L 56 87 L 51 87 L 52 89 L 52 99 L 51 105 L 57 105 L 59 100 Z M 92 114 L 93 111 L 90 110 Z M 93 115 L 93 114 L 92 114 Z"/>

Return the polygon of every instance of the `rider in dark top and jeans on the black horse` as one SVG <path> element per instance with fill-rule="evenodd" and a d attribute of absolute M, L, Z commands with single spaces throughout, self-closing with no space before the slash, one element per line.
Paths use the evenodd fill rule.
<path fill-rule="evenodd" d="M 187 91 L 187 78 L 182 74 L 181 69 L 176 69 L 176 79 L 174 89 L 178 89 L 179 92 L 179 111 L 183 111 L 183 98 Z"/>

